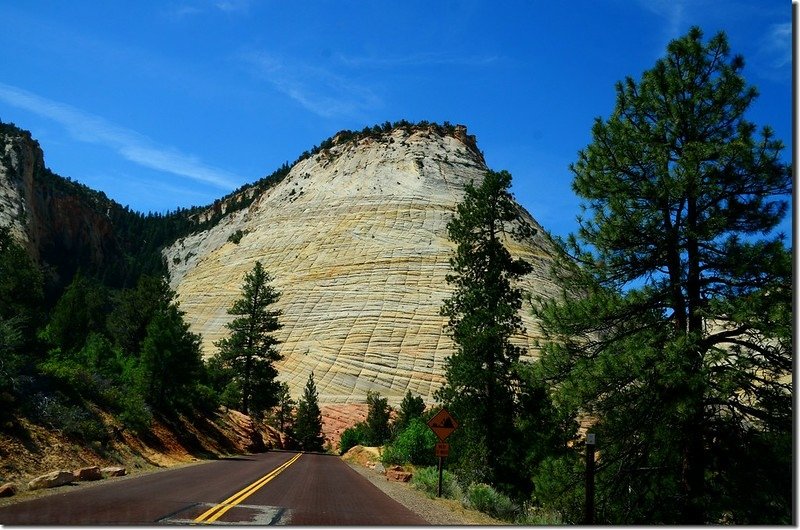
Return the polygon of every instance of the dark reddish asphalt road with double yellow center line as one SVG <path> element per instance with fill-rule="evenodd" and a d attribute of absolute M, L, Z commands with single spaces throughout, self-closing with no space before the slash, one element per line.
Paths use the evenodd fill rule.
<path fill-rule="evenodd" d="M 270 452 L 59 490 L 0 508 L 0 524 L 426 524 L 330 455 Z"/>

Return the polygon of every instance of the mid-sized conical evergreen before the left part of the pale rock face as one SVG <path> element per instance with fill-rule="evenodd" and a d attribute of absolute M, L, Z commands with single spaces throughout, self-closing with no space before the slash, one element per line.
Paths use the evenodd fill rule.
<path fill-rule="evenodd" d="M 226 324 L 229 337 L 216 343 L 222 364 L 235 374 L 241 388 L 242 411 L 249 414 L 277 404 L 278 375 L 274 363 L 283 357 L 278 353 L 274 332 L 283 327 L 278 322 L 281 312 L 270 309 L 280 293 L 272 278 L 257 261 L 244 277 L 242 297 L 233 303 L 228 314 L 236 315 Z M 257 409 L 257 410 L 256 410 Z"/>

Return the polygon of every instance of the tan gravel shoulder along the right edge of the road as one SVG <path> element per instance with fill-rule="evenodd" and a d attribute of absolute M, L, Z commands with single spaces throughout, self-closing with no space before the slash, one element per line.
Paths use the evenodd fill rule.
<path fill-rule="evenodd" d="M 508 525 L 508 523 L 489 517 L 484 513 L 468 510 L 461 506 L 461 503 L 458 501 L 452 499 L 431 499 L 421 491 L 412 488 L 408 483 L 389 481 L 384 475 L 377 473 L 373 469 L 352 462 L 345 461 L 345 463 L 358 474 L 372 482 L 378 489 L 386 493 L 386 495 L 432 525 Z"/>

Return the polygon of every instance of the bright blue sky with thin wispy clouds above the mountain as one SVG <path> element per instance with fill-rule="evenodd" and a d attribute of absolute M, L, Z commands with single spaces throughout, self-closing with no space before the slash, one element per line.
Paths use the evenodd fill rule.
<path fill-rule="evenodd" d="M 16 4 L 16 5 L 15 5 Z M 56 173 L 140 211 L 212 202 L 341 129 L 450 121 L 556 235 L 614 84 L 727 33 L 791 160 L 788 0 L 5 2 L 0 119 Z M 790 220 L 784 223 L 790 233 Z"/>

